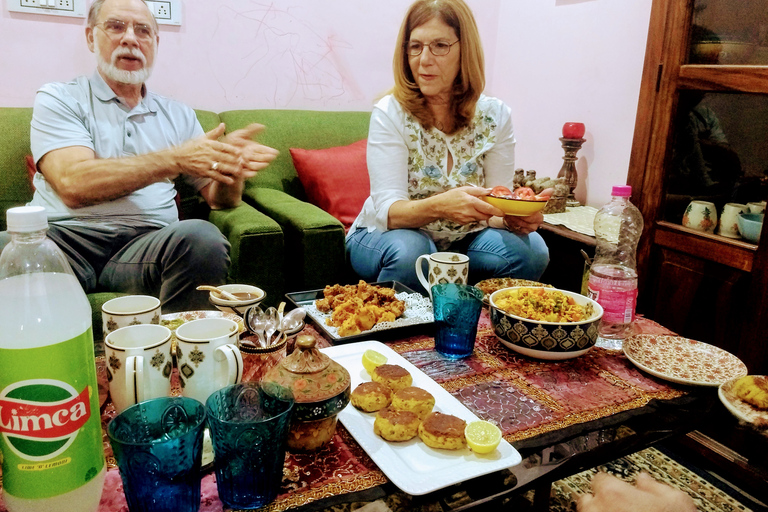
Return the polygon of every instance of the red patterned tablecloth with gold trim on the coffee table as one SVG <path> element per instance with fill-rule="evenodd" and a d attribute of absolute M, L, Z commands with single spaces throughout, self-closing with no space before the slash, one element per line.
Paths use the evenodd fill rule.
<path fill-rule="evenodd" d="M 643 318 L 638 319 L 634 329 L 639 333 L 673 334 Z M 322 339 L 311 326 L 306 330 Z M 327 346 L 327 340 L 323 339 L 320 345 Z M 638 371 L 617 351 L 595 348 L 585 356 L 561 362 L 519 356 L 497 341 L 485 310 L 474 354 L 468 359 L 441 358 L 433 350 L 434 341 L 429 336 L 414 336 L 389 345 L 478 417 L 497 423 L 510 442 L 643 407 L 652 399 L 672 399 L 684 394 L 679 388 Z M 100 388 L 104 394 L 106 382 L 100 383 Z M 102 416 L 104 426 L 113 414 L 107 404 Z M 110 470 L 99 510 L 127 512 L 122 482 L 106 436 L 105 448 Z M 282 511 L 386 482 L 383 473 L 339 424 L 333 441 L 323 450 L 286 456 L 280 495 L 263 510 Z M 223 510 L 212 473 L 202 481 L 200 510 Z M 2 504 L 0 512 L 5 512 Z"/>

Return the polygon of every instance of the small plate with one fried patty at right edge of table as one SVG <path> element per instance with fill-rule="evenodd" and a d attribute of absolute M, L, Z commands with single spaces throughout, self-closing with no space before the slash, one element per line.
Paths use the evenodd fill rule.
<path fill-rule="evenodd" d="M 745 375 L 720 384 L 720 401 L 731 414 L 758 428 L 768 429 L 768 377 Z"/>

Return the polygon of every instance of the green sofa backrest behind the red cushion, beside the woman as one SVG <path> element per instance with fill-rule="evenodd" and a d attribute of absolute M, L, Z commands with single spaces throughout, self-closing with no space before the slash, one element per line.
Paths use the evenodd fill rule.
<path fill-rule="evenodd" d="M 306 199 L 296 176 L 290 148 L 322 149 L 345 146 L 368 137 L 370 112 L 323 112 L 314 110 L 231 110 L 219 114 L 227 132 L 251 123 L 263 124 L 257 140 L 280 151 L 269 167 L 248 180 L 248 189 L 256 187 L 282 190 Z"/>

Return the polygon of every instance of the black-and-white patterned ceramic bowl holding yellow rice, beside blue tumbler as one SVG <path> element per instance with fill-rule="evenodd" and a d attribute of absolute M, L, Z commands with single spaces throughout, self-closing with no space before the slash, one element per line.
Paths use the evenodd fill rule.
<path fill-rule="evenodd" d="M 512 290 L 522 288 L 558 291 L 582 306 L 587 318 L 580 322 L 531 320 L 504 311 L 498 301 Z M 491 294 L 490 314 L 493 332 L 506 347 L 537 359 L 571 359 L 586 354 L 597 341 L 597 327 L 603 317 L 600 304 L 581 294 L 555 288 L 512 287 Z"/>

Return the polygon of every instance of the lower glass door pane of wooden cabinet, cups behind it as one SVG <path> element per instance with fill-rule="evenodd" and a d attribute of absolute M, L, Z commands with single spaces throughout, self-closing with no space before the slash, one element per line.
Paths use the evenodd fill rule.
<path fill-rule="evenodd" d="M 740 238 L 718 220 L 765 208 L 768 96 L 681 90 L 670 153 L 663 219 Z"/>

